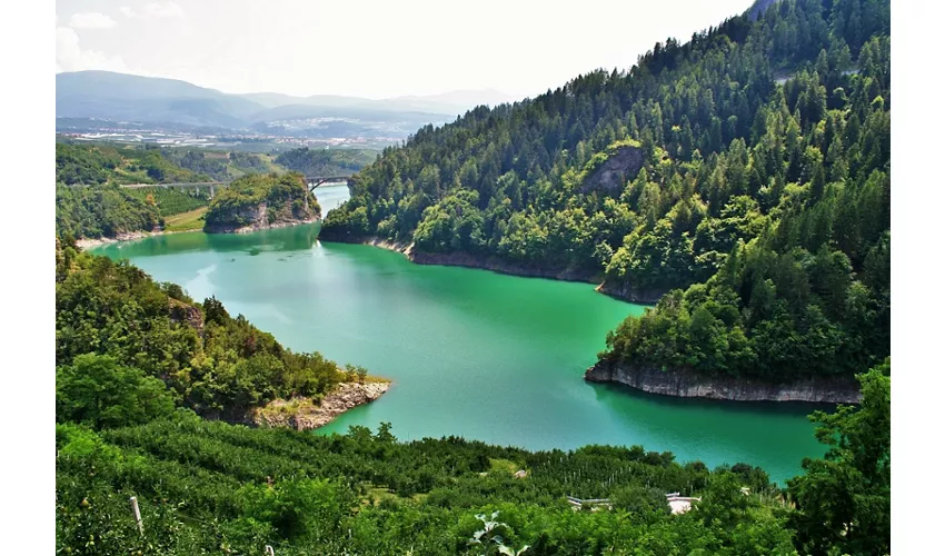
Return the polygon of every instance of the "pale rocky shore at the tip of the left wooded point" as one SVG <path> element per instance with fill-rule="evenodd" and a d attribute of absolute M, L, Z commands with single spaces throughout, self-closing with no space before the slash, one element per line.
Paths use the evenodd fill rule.
<path fill-rule="evenodd" d="M 309 430 L 330 423 L 342 413 L 381 397 L 390 383 L 341 383 L 316 405 L 309 398 L 276 399 L 252 411 L 249 420 L 263 427 Z"/>

